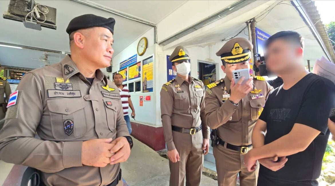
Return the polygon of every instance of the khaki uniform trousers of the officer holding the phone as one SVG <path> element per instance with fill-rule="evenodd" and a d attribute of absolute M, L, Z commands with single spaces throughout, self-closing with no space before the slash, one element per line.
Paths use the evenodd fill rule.
<path fill-rule="evenodd" d="M 249 148 L 249 150 L 252 148 Z M 236 186 L 237 175 L 240 175 L 240 186 L 256 186 L 259 163 L 257 169 L 249 172 L 243 163 L 243 156 L 238 151 L 226 148 L 226 144 L 216 145 L 213 148 L 218 186 Z"/>

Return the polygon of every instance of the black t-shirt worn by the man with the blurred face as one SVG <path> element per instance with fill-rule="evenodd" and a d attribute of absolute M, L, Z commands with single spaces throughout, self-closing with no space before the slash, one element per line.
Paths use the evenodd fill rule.
<path fill-rule="evenodd" d="M 258 186 L 314 186 L 320 176 L 329 130 L 329 111 L 335 103 L 335 85 L 328 79 L 308 74 L 288 90 L 283 86 L 269 95 L 259 119 L 266 122 L 265 144 L 288 134 L 294 123 L 321 133 L 305 151 L 287 156 L 285 166 L 274 172 L 260 166 Z"/>

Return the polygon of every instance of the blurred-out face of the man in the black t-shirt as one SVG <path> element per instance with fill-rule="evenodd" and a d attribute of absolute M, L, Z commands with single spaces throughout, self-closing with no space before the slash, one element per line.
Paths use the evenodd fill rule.
<path fill-rule="evenodd" d="M 284 39 L 274 40 L 266 49 L 266 67 L 277 75 L 294 70 L 303 49 L 300 45 Z"/>

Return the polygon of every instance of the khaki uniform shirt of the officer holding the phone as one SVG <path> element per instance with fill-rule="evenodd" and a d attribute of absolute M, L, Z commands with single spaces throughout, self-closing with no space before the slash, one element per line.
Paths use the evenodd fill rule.
<path fill-rule="evenodd" d="M 206 119 L 210 128 L 217 128 L 218 136 L 225 142 L 236 145 L 246 146 L 251 144 L 251 133 L 256 120 L 260 116 L 265 100 L 273 88 L 264 80 L 256 76 L 253 80 L 254 88 L 259 91 L 257 94 L 249 92 L 237 105 L 228 99 L 224 100 L 224 87 L 227 93 L 230 92 L 231 81 L 226 76 L 224 79 L 207 85 L 206 89 Z M 252 96 L 260 98 L 252 99 Z M 227 98 L 227 96 L 225 96 Z"/>

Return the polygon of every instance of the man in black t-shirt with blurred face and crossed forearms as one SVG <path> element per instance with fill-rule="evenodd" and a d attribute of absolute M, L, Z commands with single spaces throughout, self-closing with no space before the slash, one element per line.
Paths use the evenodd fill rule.
<path fill-rule="evenodd" d="M 306 71 L 304 43 L 297 32 L 272 35 L 266 49 L 267 67 L 284 84 L 269 95 L 253 130 L 254 148 L 244 163 L 249 171 L 257 160 L 261 164 L 258 186 L 317 186 L 335 85 Z"/>

